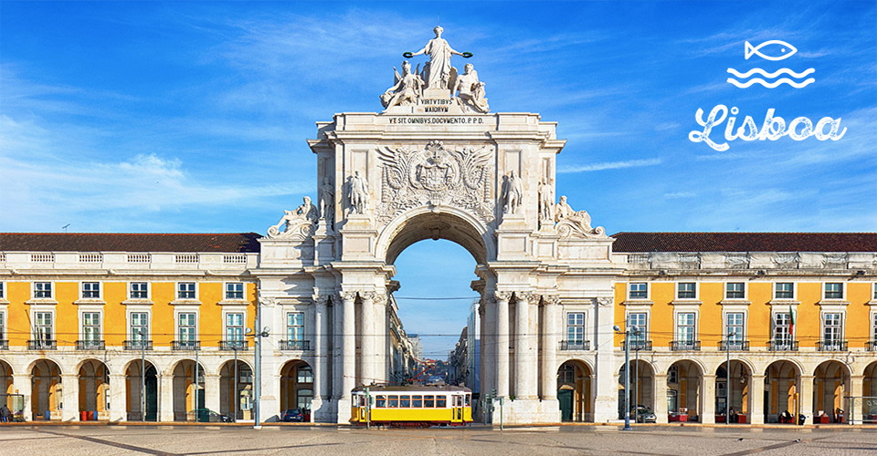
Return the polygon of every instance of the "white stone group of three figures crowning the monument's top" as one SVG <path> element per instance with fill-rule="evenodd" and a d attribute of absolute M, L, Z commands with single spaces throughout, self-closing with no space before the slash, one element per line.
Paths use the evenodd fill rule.
<path fill-rule="evenodd" d="M 463 67 L 463 74 L 459 75 L 457 68 L 451 67 L 450 57 L 472 57 L 470 52 L 458 52 L 450 47 L 448 41 L 441 37 L 444 31 L 440 26 L 433 29 L 436 37 L 430 39 L 426 46 L 417 52 L 406 52 L 403 57 L 411 58 L 420 55 L 429 56 L 429 61 L 423 69 L 417 64 L 414 72 L 411 71 L 411 63 L 402 62 L 402 74 L 396 67 L 393 87 L 387 88 L 381 95 L 381 104 L 385 109 L 395 106 L 417 105 L 424 97 L 424 91 L 428 89 L 449 90 L 450 97 L 454 98 L 460 108 L 473 112 L 486 113 L 490 111 L 487 98 L 484 97 L 484 83 L 478 79 L 475 67 L 468 63 Z"/>

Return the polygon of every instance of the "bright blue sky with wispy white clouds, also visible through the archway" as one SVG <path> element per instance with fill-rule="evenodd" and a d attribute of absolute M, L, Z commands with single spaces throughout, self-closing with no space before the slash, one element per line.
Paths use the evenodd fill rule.
<path fill-rule="evenodd" d="M 314 122 L 379 110 L 437 15 L 493 111 L 559 122 L 558 193 L 608 233 L 877 230 L 874 1 L 4 1 L 0 231 L 264 233 L 315 193 Z M 744 58 L 746 40 L 770 39 L 798 53 Z M 728 67 L 813 67 L 816 81 L 735 88 Z M 719 104 L 738 125 L 775 109 L 847 132 L 719 152 L 688 139 L 695 111 Z M 471 295 L 474 261 L 452 244 L 396 265 L 400 296 Z M 469 303 L 400 305 L 409 331 L 455 340 Z"/>

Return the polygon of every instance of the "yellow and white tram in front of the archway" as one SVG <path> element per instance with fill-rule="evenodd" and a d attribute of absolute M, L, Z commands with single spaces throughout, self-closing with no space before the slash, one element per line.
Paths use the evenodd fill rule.
<path fill-rule="evenodd" d="M 451 386 L 372 386 L 351 391 L 350 422 L 365 426 L 463 426 L 472 422 L 472 390 Z"/>

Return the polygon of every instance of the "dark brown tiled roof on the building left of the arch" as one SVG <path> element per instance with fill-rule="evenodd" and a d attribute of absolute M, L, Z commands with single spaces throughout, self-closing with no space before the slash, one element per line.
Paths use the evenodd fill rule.
<path fill-rule="evenodd" d="M 259 252 L 257 233 L 0 233 L 0 252 Z"/>

